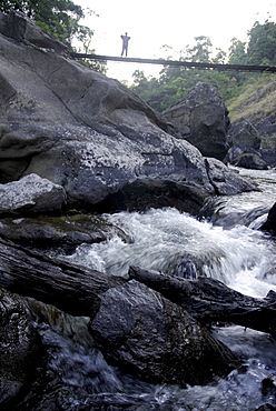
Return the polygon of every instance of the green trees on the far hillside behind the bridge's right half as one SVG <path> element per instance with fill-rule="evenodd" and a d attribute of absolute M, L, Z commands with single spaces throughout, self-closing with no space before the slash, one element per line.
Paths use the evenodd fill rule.
<path fill-rule="evenodd" d="M 180 52 L 180 61 L 215 62 L 223 64 L 276 64 L 276 24 L 256 22 L 248 31 L 248 46 L 236 38 L 231 40 L 228 53 L 216 49 L 211 59 L 211 41 L 205 36 L 196 37 L 194 46 L 186 46 Z M 168 52 L 171 48 L 164 47 Z M 137 70 L 131 89 L 148 104 L 158 111 L 165 111 L 183 98 L 196 86 L 198 81 L 208 82 L 217 89 L 224 101 L 234 100 L 256 78 L 266 76 L 254 72 L 198 70 L 185 67 L 165 66 L 159 78 L 147 78 L 142 71 Z"/>

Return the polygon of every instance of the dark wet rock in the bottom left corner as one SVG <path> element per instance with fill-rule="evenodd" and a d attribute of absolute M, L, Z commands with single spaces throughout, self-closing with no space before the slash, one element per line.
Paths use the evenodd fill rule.
<path fill-rule="evenodd" d="M 0 289 L 0 405 L 28 392 L 42 350 L 27 303 Z"/>

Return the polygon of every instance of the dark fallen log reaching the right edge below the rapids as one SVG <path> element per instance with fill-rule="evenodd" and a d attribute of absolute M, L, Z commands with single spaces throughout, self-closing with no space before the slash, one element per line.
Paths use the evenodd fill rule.
<path fill-rule="evenodd" d="M 210 278 L 187 280 L 139 267 L 130 267 L 129 277 L 181 305 L 204 324 L 217 321 L 233 322 L 276 337 L 274 291 L 269 291 L 265 299 L 256 299 L 231 290 L 223 282 Z"/>

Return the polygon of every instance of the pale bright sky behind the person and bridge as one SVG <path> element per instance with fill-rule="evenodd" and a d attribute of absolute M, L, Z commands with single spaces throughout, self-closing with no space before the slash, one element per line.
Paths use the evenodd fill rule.
<path fill-rule="evenodd" d="M 80 23 L 95 31 L 91 48 L 100 56 L 120 56 L 120 36 L 130 37 L 128 57 L 179 59 L 179 51 L 195 44 L 195 37 L 209 37 L 214 49 L 227 51 L 231 39 L 247 41 L 255 21 L 276 22 L 272 0 L 75 0 L 88 16 Z M 164 48 L 169 46 L 171 49 Z M 135 70 L 158 77 L 161 66 L 108 62 L 107 76 L 131 84 Z"/>

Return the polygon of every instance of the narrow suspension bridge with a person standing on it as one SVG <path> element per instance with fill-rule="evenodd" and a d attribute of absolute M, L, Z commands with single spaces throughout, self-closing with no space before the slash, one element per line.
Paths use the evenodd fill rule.
<path fill-rule="evenodd" d="M 70 57 L 72 59 L 90 59 L 90 60 L 101 60 L 101 61 L 118 61 L 124 63 L 140 63 L 140 64 L 160 64 L 160 66 L 171 66 L 171 67 L 186 67 L 190 69 L 209 69 L 219 71 L 250 71 L 250 72 L 267 72 L 275 73 L 276 67 L 270 66 L 248 66 L 248 64 L 218 64 L 218 63 L 204 63 L 204 62 L 193 62 L 193 61 L 181 61 L 181 60 L 165 60 L 165 59 L 140 59 L 140 58 L 129 58 L 129 57 L 111 57 L 111 56 L 99 56 L 99 54 L 86 54 L 86 53 L 75 53 L 71 52 Z"/>

